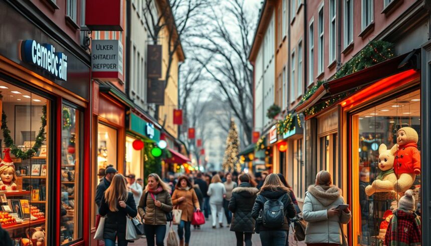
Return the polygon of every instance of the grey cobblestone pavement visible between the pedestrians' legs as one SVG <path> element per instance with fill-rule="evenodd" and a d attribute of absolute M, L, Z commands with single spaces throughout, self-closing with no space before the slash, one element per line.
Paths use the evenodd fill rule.
<path fill-rule="evenodd" d="M 226 218 L 225 218 L 226 220 Z M 211 220 L 205 221 L 205 224 L 201 225 L 200 230 L 193 229 L 193 225 L 191 226 L 191 237 L 190 237 L 190 246 L 224 246 L 224 245 L 233 245 L 235 246 L 237 243 L 235 232 L 230 231 L 229 227 L 226 226 L 226 221 L 224 222 L 225 227 L 220 228 L 217 226 L 217 229 L 213 229 L 211 227 Z M 172 225 L 173 229 L 176 231 L 177 226 Z M 169 227 L 166 228 L 166 235 L 169 231 Z M 253 234 L 252 237 L 253 245 L 261 246 L 261 240 L 259 238 L 259 234 Z M 296 241 L 293 239 L 292 233 L 289 235 L 289 245 L 296 245 Z M 294 242 L 294 243 L 292 243 Z M 128 245 L 147 245 L 146 239 L 140 239 L 135 241 L 134 243 L 129 243 Z M 165 239 L 166 245 L 166 239 Z M 298 245 L 305 245 L 303 242 L 299 242 Z"/>

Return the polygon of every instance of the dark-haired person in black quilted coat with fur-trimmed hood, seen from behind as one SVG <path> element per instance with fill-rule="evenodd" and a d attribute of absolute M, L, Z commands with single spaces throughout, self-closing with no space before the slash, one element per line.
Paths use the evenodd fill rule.
<path fill-rule="evenodd" d="M 229 201 L 229 210 L 234 214 L 231 231 L 235 231 L 237 246 L 244 246 L 244 242 L 246 246 L 251 246 L 252 234 L 255 232 L 255 219 L 252 217 L 252 209 L 259 190 L 247 173 L 240 175 L 238 183 L 239 186 L 234 188 Z"/>

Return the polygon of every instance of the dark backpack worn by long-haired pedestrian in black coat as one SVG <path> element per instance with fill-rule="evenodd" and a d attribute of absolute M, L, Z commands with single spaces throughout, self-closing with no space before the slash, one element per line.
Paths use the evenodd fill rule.
<path fill-rule="evenodd" d="M 283 195 L 277 200 L 267 200 L 262 211 L 262 223 L 267 228 L 280 228 L 284 223 L 284 204 L 282 202 Z"/>

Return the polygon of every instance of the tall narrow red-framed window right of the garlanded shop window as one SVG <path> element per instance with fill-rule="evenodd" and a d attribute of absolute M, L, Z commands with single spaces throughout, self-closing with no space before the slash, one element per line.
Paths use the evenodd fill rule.
<path fill-rule="evenodd" d="M 67 244 L 82 237 L 82 180 L 80 178 L 80 139 L 82 114 L 63 104 L 61 152 L 60 242 Z"/>

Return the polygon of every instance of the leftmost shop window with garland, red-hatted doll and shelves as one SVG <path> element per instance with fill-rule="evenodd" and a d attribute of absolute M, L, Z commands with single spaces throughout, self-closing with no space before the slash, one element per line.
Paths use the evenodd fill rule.
<path fill-rule="evenodd" d="M 0 80 L 0 224 L 14 245 L 44 243 L 51 233 L 49 107 L 47 99 Z"/>

